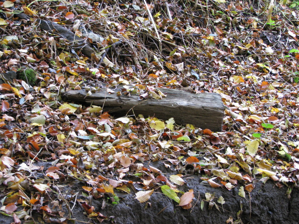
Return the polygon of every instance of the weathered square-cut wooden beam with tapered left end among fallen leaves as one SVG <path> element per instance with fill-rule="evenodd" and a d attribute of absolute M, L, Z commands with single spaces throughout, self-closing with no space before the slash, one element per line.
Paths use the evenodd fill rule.
<path fill-rule="evenodd" d="M 138 95 L 117 96 L 108 94 L 105 90 L 86 96 L 85 90 L 70 90 L 64 93 L 67 99 L 75 102 L 93 103 L 103 106 L 104 111 L 124 116 L 155 116 L 168 120 L 173 117 L 176 124 L 193 124 L 196 127 L 212 131 L 222 131 L 223 103 L 217 93 L 189 93 L 183 90 L 159 88 L 166 97 L 162 99 L 139 100 Z"/>

